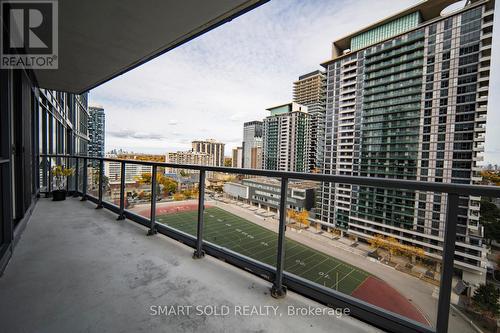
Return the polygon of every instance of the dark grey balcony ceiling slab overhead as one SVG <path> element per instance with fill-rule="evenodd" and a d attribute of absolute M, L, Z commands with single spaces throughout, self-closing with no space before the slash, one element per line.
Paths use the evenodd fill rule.
<path fill-rule="evenodd" d="M 85 92 L 267 1 L 59 1 L 59 69 L 38 85 Z"/>

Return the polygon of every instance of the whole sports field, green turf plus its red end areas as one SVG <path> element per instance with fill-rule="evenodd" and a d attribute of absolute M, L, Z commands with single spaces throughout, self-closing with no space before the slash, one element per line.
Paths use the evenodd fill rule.
<path fill-rule="evenodd" d="M 194 204 L 165 206 L 157 209 L 156 220 L 196 235 L 197 214 Z M 277 236 L 221 208 L 205 208 L 203 239 L 208 242 L 276 266 Z M 285 271 L 428 324 L 413 304 L 379 278 L 292 239 L 287 238 L 285 244 Z"/>

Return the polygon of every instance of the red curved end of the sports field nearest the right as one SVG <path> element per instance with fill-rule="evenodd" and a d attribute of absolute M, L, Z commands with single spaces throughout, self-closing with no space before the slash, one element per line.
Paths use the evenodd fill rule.
<path fill-rule="evenodd" d="M 352 293 L 353 297 L 400 314 L 407 318 L 430 325 L 429 321 L 415 305 L 386 282 L 369 276 Z"/>

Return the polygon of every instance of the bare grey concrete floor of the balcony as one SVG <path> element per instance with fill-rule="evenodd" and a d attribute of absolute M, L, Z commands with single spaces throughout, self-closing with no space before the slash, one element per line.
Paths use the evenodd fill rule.
<path fill-rule="evenodd" d="M 40 199 L 0 278 L 3 332 L 376 332 L 344 316 L 288 316 L 321 307 L 163 235 L 70 198 Z M 151 306 L 279 306 L 282 316 L 151 315 Z M 272 313 L 272 311 L 271 311 Z"/>

